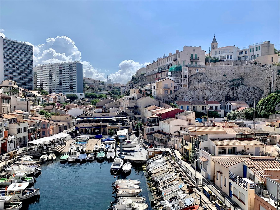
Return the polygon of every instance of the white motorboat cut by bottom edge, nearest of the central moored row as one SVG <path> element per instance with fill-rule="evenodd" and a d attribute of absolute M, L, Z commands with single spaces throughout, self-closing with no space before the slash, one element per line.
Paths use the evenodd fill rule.
<path fill-rule="evenodd" d="M 112 206 L 110 210 L 146 210 L 147 202 L 134 203 L 130 198 L 119 198 L 119 202 Z"/>

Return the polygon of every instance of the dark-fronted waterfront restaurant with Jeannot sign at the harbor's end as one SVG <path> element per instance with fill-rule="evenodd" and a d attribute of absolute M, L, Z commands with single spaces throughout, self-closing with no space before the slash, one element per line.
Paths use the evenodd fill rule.
<path fill-rule="evenodd" d="M 131 132 L 132 124 L 129 121 L 123 121 L 123 119 L 128 119 L 128 117 L 121 110 L 112 113 L 85 112 L 77 116 L 75 129 L 79 130 L 81 135 L 101 134 L 101 129 L 102 134 L 108 134 L 110 128 L 115 131 L 128 129 Z"/>

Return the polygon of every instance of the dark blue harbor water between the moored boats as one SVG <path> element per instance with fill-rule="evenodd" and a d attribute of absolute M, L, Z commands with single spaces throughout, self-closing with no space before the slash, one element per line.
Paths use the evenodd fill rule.
<path fill-rule="evenodd" d="M 59 161 L 41 166 L 42 174 L 36 178 L 35 188 L 40 188 L 40 201 L 27 204 L 22 209 L 92 209 L 106 210 L 112 197 L 111 184 L 117 179 L 139 179 L 141 194 L 150 205 L 145 177 L 141 165 L 134 165 L 128 177 L 110 174 L 109 162 L 64 163 Z"/>

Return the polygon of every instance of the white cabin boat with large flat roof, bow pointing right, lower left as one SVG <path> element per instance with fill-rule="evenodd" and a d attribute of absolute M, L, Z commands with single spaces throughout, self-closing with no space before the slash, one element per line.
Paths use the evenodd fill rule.
<path fill-rule="evenodd" d="M 12 201 L 20 201 L 31 198 L 33 196 L 40 195 L 40 189 L 37 188 L 27 188 L 27 182 L 16 182 L 8 186 L 7 189 L 0 189 L 1 196 L 10 195 L 12 196 Z"/>

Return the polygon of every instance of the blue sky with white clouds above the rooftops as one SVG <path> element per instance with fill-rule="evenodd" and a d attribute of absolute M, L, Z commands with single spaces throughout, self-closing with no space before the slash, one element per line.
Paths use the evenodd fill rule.
<path fill-rule="evenodd" d="M 280 49 L 280 1 L 0 0 L 0 35 L 34 45 L 34 65 L 80 60 L 83 76 L 126 84 L 183 46 L 209 51 L 270 41 Z"/>

